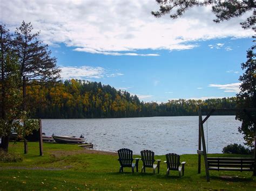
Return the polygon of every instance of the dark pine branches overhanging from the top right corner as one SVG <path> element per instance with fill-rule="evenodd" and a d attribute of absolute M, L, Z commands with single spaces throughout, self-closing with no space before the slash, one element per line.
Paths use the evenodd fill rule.
<path fill-rule="evenodd" d="M 256 4 L 254 0 L 243 1 L 213 1 L 213 0 L 156 0 L 160 5 L 159 11 L 152 11 L 152 15 L 155 17 L 161 17 L 166 14 L 170 14 L 172 19 L 177 19 L 183 16 L 183 14 L 191 9 L 193 6 L 207 6 L 212 5 L 212 12 L 217 17 L 213 20 L 215 23 L 220 23 L 224 20 L 229 20 L 233 17 L 240 17 L 248 11 L 253 11 L 252 15 L 248 17 L 245 22 L 240 23 L 244 29 L 252 29 L 255 31 L 255 15 Z M 174 12 L 174 13 L 172 13 Z"/>

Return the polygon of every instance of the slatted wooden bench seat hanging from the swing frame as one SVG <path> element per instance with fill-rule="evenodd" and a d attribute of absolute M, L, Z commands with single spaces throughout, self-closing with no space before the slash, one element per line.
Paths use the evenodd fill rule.
<path fill-rule="evenodd" d="M 253 171 L 254 158 L 207 157 L 208 169 L 213 171 Z"/>

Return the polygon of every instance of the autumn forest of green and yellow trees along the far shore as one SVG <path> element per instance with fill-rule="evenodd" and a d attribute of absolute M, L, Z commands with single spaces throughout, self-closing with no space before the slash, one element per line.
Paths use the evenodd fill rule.
<path fill-rule="evenodd" d="M 32 118 L 192 116 L 198 115 L 199 107 L 210 109 L 236 106 L 236 97 L 179 99 L 160 104 L 143 102 L 127 91 L 117 90 L 100 82 L 75 79 L 47 85 L 28 84 L 26 91 L 26 102 Z"/>

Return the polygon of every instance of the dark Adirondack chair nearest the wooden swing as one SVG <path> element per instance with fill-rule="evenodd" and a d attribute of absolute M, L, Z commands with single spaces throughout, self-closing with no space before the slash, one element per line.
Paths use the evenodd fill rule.
<path fill-rule="evenodd" d="M 167 165 L 167 172 L 166 174 L 169 175 L 170 171 L 179 171 L 179 177 L 182 175 L 184 176 L 184 168 L 186 162 L 180 163 L 180 155 L 176 153 L 168 153 L 165 154 L 166 161 L 164 161 Z"/>

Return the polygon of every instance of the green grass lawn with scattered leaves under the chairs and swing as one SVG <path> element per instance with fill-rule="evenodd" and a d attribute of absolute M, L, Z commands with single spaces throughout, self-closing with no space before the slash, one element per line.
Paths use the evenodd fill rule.
<path fill-rule="evenodd" d="M 211 182 L 205 178 L 202 162 L 201 174 L 197 173 L 197 154 L 181 155 L 186 161 L 185 175 L 178 171 L 166 175 L 165 156 L 161 159 L 160 173 L 131 173 L 124 168 L 119 173 L 117 154 L 87 153 L 77 145 L 44 143 L 44 155 L 39 157 L 39 144 L 29 143 L 29 153 L 23 154 L 23 143 L 10 143 L 9 150 L 23 157 L 22 162 L 0 162 L 0 190 L 255 190 L 256 177 L 252 172 L 210 171 Z M 212 154 L 221 157 L 240 157 L 232 154 Z M 136 158 L 136 156 L 134 156 Z M 203 160 L 203 158 L 202 158 Z M 139 162 L 139 170 L 142 161 Z"/>

